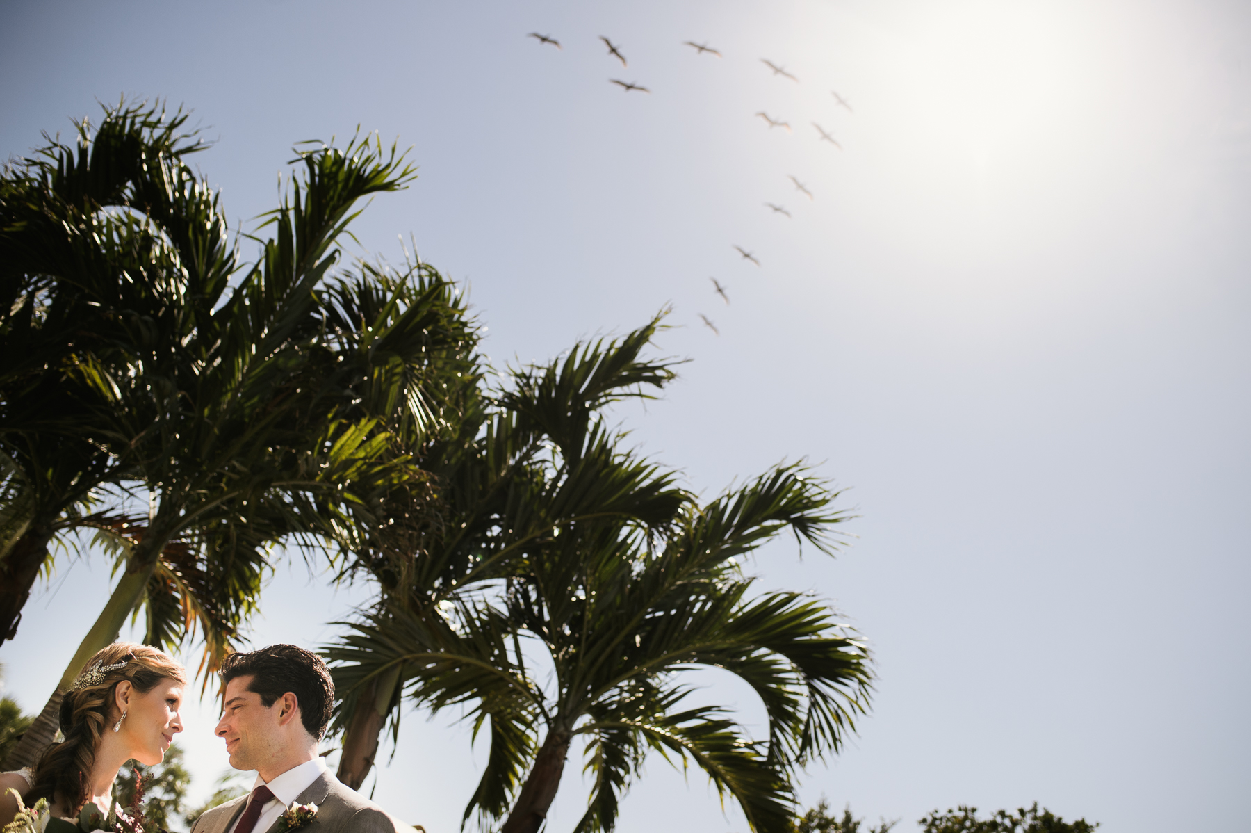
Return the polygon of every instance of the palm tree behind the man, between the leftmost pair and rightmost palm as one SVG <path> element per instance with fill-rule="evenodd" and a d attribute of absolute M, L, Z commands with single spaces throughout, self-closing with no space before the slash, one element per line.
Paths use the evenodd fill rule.
<path fill-rule="evenodd" d="M 508 390 L 463 389 L 449 430 L 420 452 L 438 493 L 439 522 L 410 537 L 407 548 L 368 560 L 382 588 L 378 612 L 442 622 L 449 595 L 510 574 L 529 548 L 578 519 L 617 517 L 652 527 L 673 520 L 687 495 L 651 467 L 613 460 L 600 413 L 624 398 L 648 398 L 644 386 L 674 378 L 672 359 L 639 358 L 659 321 L 513 371 Z M 553 457 L 553 448 L 568 450 Z M 333 659 L 334 649 L 328 655 Z M 338 777 L 353 788 L 372 768 L 388 719 L 398 727 L 399 695 L 410 680 L 400 667 L 365 678 L 357 670 L 333 668 L 342 698 L 335 729 L 344 732 Z"/>

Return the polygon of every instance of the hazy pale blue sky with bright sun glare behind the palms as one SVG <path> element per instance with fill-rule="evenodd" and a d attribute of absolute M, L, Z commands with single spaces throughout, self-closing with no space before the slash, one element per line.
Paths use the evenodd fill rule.
<path fill-rule="evenodd" d="M 878 660 L 873 714 L 807 800 L 897 830 L 1033 800 L 1107 833 L 1243 829 L 1251 8 L 45 1 L 4 21 L 0 153 L 96 100 L 183 103 L 245 229 L 295 141 L 360 125 L 414 145 L 420 179 L 358 234 L 399 259 L 412 233 L 467 281 L 499 364 L 673 304 L 658 350 L 693 361 L 622 411 L 641 447 L 706 494 L 807 457 L 861 515 L 837 560 L 757 562 L 832 599 Z M 28 709 L 108 583 L 63 559 L 0 648 Z M 254 642 L 324 643 L 368 597 L 283 567 Z M 707 683 L 759 728 L 748 693 Z M 189 717 L 196 798 L 226 767 L 214 720 Z M 407 714 L 375 799 L 453 833 L 480 753 Z M 552 830 L 582 813 L 579 763 Z M 683 825 L 746 833 L 654 760 L 620 829 Z"/>

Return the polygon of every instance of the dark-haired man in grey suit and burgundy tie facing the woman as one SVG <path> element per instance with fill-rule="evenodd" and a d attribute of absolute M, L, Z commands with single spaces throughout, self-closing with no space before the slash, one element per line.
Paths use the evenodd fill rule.
<path fill-rule="evenodd" d="M 208 810 L 191 833 L 265 833 L 291 802 L 317 804 L 309 833 L 413 833 L 340 784 L 318 754 L 334 683 L 317 654 L 295 645 L 230 654 L 220 677 L 226 690 L 216 735 L 226 742 L 230 765 L 255 769 L 256 783 L 251 794 Z"/>

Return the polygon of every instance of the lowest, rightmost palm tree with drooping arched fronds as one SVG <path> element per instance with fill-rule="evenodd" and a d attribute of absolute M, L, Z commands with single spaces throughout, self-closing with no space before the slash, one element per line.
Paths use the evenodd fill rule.
<path fill-rule="evenodd" d="M 590 432 L 559 449 L 557 465 L 599 458 L 592 487 L 608 465 L 641 465 L 615 440 Z M 540 514 L 562 490 L 537 495 Z M 781 833 L 793 820 L 794 768 L 839 748 L 867 708 L 871 673 L 827 607 L 797 593 L 751 595 L 739 559 L 787 528 L 829 552 L 832 527 L 846 519 L 829 510 L 834 497 L 789 465 L 702 508 L 679 502 L 672 524 L 577 517 L 519 550 L 494 583 L 447 593 L 442 615 L 378 609 L 328 654 L 358 690 L 399 677 L 414 703 L 468 704 L 475 732 L 489 725 L 467 819 L 477 809 L 484 823 L 507 817 L 503 833 L 537 832 L 580 735 L 594 785 L 578 830 L 612 829 L 631 777 L 659 750 L 689 757 L 753 829 Z M 550 660 L 549 685 L 523 640 Z M 722 709 L 682 707 L 689 689 L 679 672 L 698 665 L 753 687 L 769 715 L 767 742 Z"/>

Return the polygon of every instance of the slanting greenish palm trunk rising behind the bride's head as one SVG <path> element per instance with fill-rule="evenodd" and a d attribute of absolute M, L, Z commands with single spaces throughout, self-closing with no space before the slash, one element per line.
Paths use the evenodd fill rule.
<path fill-rule="evenodd" d="M 131 558 L 130 567 L 121 575 L 118 587 L 113 589 L 113 595 L 109 597 L 109 602 L 104 605 L 104 610 L 100 612 L 100 617 L 91 625 L 79 649 L 74 653 L 74 659 L 65 668 L 61 682 L 58 683 L 53 695 L 48 698 L 44 710 L 39 713 L 39 717 L 30 724 L 26 733 L 21 735 L 21 740 L 9 753 L 9 757 L 4 762 L 5 769 L 13 770 L 33 765 L 48 744 L 53 742 L 53 737 L 56 734 L 60 723 L 59 713 L 65 692 L 74 684 L 74 679 L 83 673 L 86 660 L 95 652 L 114 642 L 118 634 L 121 633 L 121 625 L 126 623 L 126 617 L 139 607 L 139 603 L 144 598 L 144 589 L 148 587 L 148 580 L 156 569 L 158 557 L 168 539 L 169 535 L 160 537 L 158 543 L 154 537 L 135 545 L 135 554 Z M 155 548 L 153 544 L 156 544 Z"/>

